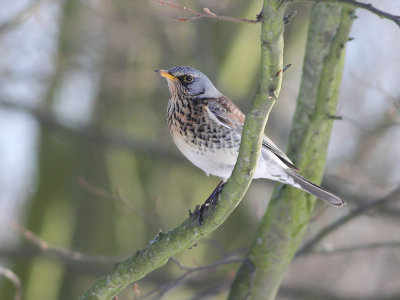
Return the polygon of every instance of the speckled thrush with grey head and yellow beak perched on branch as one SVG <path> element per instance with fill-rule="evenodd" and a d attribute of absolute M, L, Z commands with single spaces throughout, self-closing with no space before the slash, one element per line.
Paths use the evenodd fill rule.
<path fill-rule="evenodd" d="M 177 66 L 155 72 L 168 83 L 167 125 L 175 145 L 207 175 L 221 178 L 206 201 L 206 206 L 209 206 L 235 166 L 246 117 L 206 75 L 194 68 Z M 264 135 L 253 179 L 265 178 L 288 184 L 335 207 L 346 204 L 335 194 L 300 175 L 299 171 Z"/>

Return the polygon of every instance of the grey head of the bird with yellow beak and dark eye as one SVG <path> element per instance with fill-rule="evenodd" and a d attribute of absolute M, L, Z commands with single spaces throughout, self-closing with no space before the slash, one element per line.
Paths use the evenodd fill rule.
<path fill-rule="evenodd" d="M 179 66 L 167 70 L 156 70 L 167 79 L 172 96 L 183 93 L 192 99 L 219 98 L 222 94 L 215 88 L 210 79 L 191 67 Z"/>

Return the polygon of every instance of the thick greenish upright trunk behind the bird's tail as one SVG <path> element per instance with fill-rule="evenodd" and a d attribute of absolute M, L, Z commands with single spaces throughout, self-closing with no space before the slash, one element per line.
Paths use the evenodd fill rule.
<path fill-rule="evenodd" d="M 336 110 L 343 70 L 343 48 L 353 19 L 352 9 L 314 5 L 307 40 L 303 78 L 290 138 L 289 154 L 303 174 L 320 182 Z M 314 197 L 291 188 L 278 188 L 264 215 L 248 259 L 256 273 L 241 266 L 230 299 L 274 299 L 282 278 L 306 232 Z"/>

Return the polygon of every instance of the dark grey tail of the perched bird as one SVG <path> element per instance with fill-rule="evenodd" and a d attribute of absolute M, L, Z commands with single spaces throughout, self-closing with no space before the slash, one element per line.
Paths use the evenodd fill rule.
<path fill-rule="evenodd" d="M 314 195 L 319 199 L 324 200 L 325 202 L 335 207 L 341 207 L 343 205 L 346 205 L 346 202 L 340 199 L 338 196 L 312 183 L 310 180 L 304 178 L 296 171 L 287 169 L 286 172 L 289 174 L 290 177 L 293 178 L 294 182 L 297 183 L 304 191 Z"/>

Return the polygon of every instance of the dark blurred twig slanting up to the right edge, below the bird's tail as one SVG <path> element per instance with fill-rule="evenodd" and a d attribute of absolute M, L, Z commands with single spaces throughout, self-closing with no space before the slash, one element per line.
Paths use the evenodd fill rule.
<path fill-rule="evenodd" d="M 317 235 L 314 238 L 309 240 L 306 244 L 304 244 L 304 246 L 299 251 L 297 251 L 296 257 L 311 251 L 314 248 L 314 246 L 316 244 L 318 244 L 322 239 L 324 239 L 330 233 L 336 231 L 338 228 L 340 228 L 344 224 L 348 223 L 349 221 L 351 221 L 351 220 L 361 216 L 365 212 L 367 212 L 371 209 L 374 209 L 382 204 L 385 204 L 389 201 L 399 200 L 399 198 L 400 198 L 400 187 L 396 188 L 394 191 L 392 191 L 391 193 L 389 193 L 388 195 L 386 195 L 383 198 L 368 202 L 364 205 L 357 207 L 356 209 L 354 209 L 347 215 L 339 218 L 332 224 L 323 228 L 319 233 L 317 233 Z"/>

